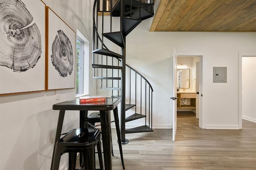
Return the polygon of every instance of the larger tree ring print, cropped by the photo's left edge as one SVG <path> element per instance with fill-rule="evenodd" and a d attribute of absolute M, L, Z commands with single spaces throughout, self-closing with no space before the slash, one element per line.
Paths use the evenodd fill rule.
<path fill-rule="evenodd" d="M 0 66 L 16 72 L 33 68 L 41 53 L 41 35 L 20 0 L 0 0 Z"/>

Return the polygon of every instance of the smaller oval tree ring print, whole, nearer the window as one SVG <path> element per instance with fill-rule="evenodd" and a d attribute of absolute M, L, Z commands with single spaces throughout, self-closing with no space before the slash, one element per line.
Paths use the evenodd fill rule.
<path fill-rule="evenodd" d="M 52 43 L 52 64 L 60 76 L 66 77 L 73 71 L 73 49 L 70 40 L 62 30 L 58 30 Z"/>

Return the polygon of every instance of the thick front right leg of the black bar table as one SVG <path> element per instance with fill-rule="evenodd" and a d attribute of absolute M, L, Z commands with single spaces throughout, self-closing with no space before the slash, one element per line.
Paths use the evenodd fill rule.
<path fill-rule="evenodd" d="M 110 111 L 100 110 L 100 126 L 105 170 L 112 170 L 110 123 Z"/>

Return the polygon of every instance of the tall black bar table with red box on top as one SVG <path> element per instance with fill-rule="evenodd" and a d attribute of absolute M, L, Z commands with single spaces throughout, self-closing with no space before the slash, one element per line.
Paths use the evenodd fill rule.
<path fill-rule="evenodd" d="M 91 102 L 91 103 L 80 103 L 79 98 L 68 100 L 54 104 L 53 110 L 60 110 L 59 118 L 57 123 L 54 148 L 52 154 L 52 164 L 55 152 L 55 144 L 60 139 L 65 110 L 80 110 L 80 128 L 85 128 L 88 125 L 84 124 L 84 120 L 87 118 L 88 110 L 99 110 L 100 111 L 100 124 L 102 131 L 102 146 L 104 153 L 104 166 L 105 170 L 112 170 L 112 154 L 111 154 L 111 131 L 110 131 L 110 111 L 113 110 L 114 114 L 117 114 L 117 105 L 120 103 L 120 98 L 106 98 L 106 102 Z M 116 116 L 115 116 L 116 117 Z M 120 141 L 119 141 L 120 140 Z M 121 142 L 121 137 L 118 136 L 118 142 Z M 52 170 L 51 164 L 51 170 Z"/>

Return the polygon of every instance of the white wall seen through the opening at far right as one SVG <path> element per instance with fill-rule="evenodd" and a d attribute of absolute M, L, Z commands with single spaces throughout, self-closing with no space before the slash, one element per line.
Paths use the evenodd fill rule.
<path fill-rule="evenodd" d="M 256 122 L 256 57 L 242 57 L 242 117 Z"/>

